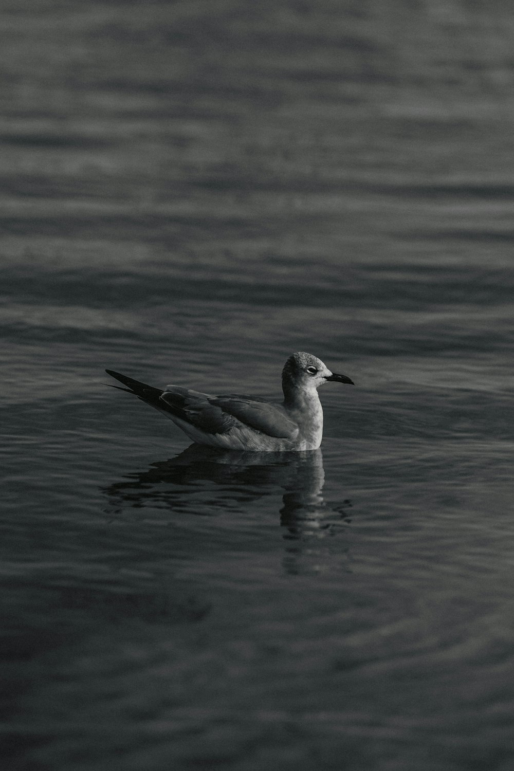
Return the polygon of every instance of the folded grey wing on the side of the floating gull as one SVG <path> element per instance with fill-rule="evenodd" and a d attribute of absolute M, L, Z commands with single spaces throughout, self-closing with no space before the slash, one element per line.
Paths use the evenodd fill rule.
<path fill-rule="evenodd" d="M 284 408 L 254 396 L 210 396 L 178 385 L 167 385 L 160 399 L 176 417 L 206 433 L 228 433 L 237 423 L 267 436 L 294 439 L 298 426 Z"/>

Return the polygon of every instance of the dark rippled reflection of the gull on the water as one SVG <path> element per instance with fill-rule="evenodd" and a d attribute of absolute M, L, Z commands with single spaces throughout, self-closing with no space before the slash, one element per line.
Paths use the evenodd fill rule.
<path fill-rule="evenodd" d="M 107 488 L 106 493 L 114 510 L 146 507 L 158 503 L 160 507 L 184 510 L 186 502 L 205 483 L 220 486 L 223 507 L 230 503 L 238 506 L 282 494 L 279 508 L 280 523 L 284 527 L 284 567 L 287 572 L 300 572 L 298 561 L 310 554 L 315 562 L 320 541 L 345 527 L 348 519 L 347 500 L 328 507 L 323 498 L 324 467 L 321 449 L 296 453 L 224 452 L 197 444 L 190 445 L 171 460 L 152 463 L 148 470 L 132 473 L 121 482 Z M 208 514 L 209 500 L 195 499 L 194 513 Z M 318 556 L 321 556 L 318 554 Z"/>

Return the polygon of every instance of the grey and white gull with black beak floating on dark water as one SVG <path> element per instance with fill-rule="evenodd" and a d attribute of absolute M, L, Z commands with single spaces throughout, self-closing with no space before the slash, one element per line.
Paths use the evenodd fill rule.
<path fill-rule="evenodd" d="M 302 452 L 317 449 L 323 436 L 323 409 L 317 389 L 324 382 L 354 385 L 347 375 L 336 375 L 311 353 L 292 354 L 282 370 L 282 402 L 247 394 L 208 393 L 166 385 L 166 389 L 106 369 L 149 406 L 173 420 L 193 442 L 221 449 L 255 452 Z"/>

